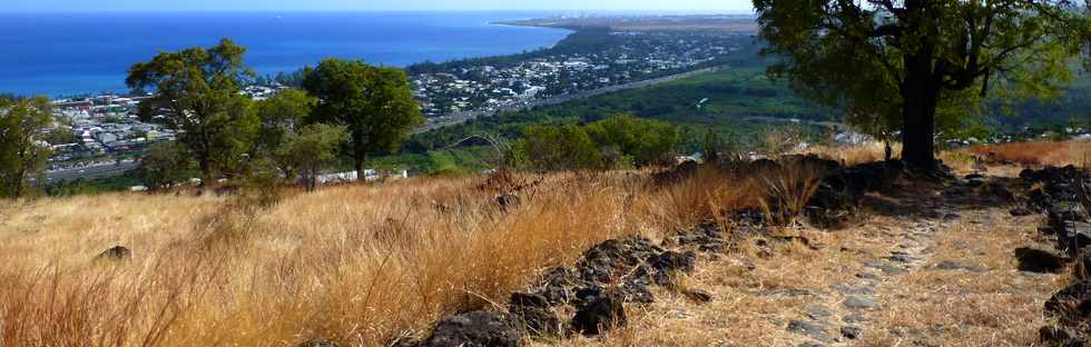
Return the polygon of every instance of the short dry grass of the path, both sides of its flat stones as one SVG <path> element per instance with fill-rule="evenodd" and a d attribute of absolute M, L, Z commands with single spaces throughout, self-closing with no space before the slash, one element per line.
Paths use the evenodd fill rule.
<path fill-rule="evenodd" d="M 896 197 L 936 197 L 934 187 L 911 185 Z M 851 314 L 830 286 L 862 282 L 854 275 L 874 272 L 863 266 L 901 250 L 920 218 L 903 201 L 904 210 L 865 208 L 866 220 L 842 230 L 797 227 L 782 230 L 802 235 L 816 245 L 774 244 L 774 256 L 761 258 L 750 247 L 707 258 L 682 279 L 685 286 L 710 291 L 715 300 L 696 304 L 675 293 L 660 293 L 659 301 L 630 308 L 629 327 L 601 339 L 578 339 L 558 346 L 800 346 L 809 339 L 786 330 L 794 319 L 806 320 L 808 305 L 830 308 L 829 333 L 837 334 L 842 317 Z M 877 205 L 877 204 L 876 204 Z M 865 206 L 866 207 L 866 206 Z M 1040 216 L 1012 221 L 1004 207 L 966 207 L 945 212 L 962 218 L 935 230 L 932 256 L 916 270 L 886 276 L 875 296 L 877 308 L 864 311 L 864 337 L 844 346 L 1033 346 L 1038 328 L 1048 323 L 1042 303 L 1068 282 L 1064 275 L 1028 275 L 1018 270 L 1014 249 L 1042 247 L 1035 227 Z M 923 230 L 918 230 L 923 231 Z M 932 270 L 944 260 L 987 268 L 987 272 Z M 748 267 L 753 265 L 753 269 Z M 813 295 L 778 295 L 803 289 Z M 902 331 L 896 334 L 895 331 Z M 901 335 L 900 335 L 901 334 Z M 841 344 L 835 344 L 842 346 Z"/>

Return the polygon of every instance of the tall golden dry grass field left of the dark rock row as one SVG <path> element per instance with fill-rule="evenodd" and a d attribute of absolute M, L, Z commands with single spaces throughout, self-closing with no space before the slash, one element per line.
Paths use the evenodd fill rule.
<path fill-rule="evenodd" d="M 422 178 L 233 199 L 106 195 L 0 202 L 0 346 L 385 345 L 488 307 L 628 235 L 753 207 L 755 178 Z M 520 189 L 522 204 L 495 196 Z M 95 260 L 116 245 L 121 262 Z"/>

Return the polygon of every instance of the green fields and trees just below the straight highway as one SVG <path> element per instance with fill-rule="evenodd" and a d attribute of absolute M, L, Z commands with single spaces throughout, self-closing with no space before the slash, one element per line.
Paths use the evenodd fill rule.
<path fill-rule="evenodd" d="M 706 98 L 708 100 L 698 107 Z M 531 125 L 588 123 L 619 113 L 675 123 L 684 133 L 704 135 L 705 129 L 714 129 L 740 142 L 755 140 L 753 135 L 767 125 L 766 118 L 836 120 L 833 110 L 795 97 L 787 88 L 771 83 L 760 69 L 733 68 L 649 88 L 474 119 L 413 135 L 404 150 L 441 149 L 475 133 L 518 138 L 522 129 Z M 682 138 L 687 141 L 680 145 L 681 150 L 701 148 L 699 139 L 702 136 Z"/>

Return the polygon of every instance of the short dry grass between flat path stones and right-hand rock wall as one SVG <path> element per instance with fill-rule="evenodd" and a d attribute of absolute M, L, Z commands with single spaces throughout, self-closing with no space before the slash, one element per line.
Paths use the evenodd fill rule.
<path fill-rule="evenodd" d="M 942 346 L 1033 346 L 1046 325 L 1042 303 L 1067 282 L 1063 276 L 1019 271 L 1014 249 L 1038 244 L 1040 217 L 1012 222 L 1003 209 L 962 211 L 963 219 L 936 234 L 928 265 L 944 260 L 987 272 L 914 271 L 897 279 L 881 298 L 875 331 L 867 344 L 889 346 L 906 338 L 891 331 L 926 331 Z"/>

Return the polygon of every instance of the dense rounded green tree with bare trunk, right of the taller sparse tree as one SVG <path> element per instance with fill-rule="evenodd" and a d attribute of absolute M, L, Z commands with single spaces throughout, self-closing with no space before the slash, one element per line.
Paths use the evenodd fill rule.
<path fill-rule="evenodd" d="M 327 59 L 304 76 L 304 89 L 318 98 L 314 120 L 348 129 L 357 172 L 368 153 L 397 150 L 424 123 L 404 70 Z"/>

